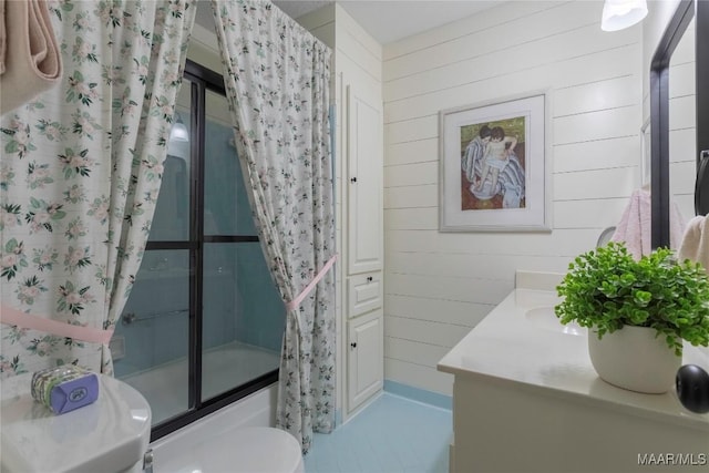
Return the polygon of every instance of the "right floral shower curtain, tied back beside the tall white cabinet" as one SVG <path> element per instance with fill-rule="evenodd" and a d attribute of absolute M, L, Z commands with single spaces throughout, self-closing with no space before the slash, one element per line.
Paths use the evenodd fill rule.
<path fill-rule="evenodd" d="M 276 422 L 307 452 L 335 424 L 331 52 L 268 1 L 212 4 L 247 192 L 287 308 Z"/>

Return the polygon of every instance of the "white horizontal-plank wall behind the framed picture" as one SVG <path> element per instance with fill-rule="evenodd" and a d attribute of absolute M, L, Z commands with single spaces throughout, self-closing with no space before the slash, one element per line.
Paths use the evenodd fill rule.
<path fill-rule="evenodd" d="M 564 273 L 639 186 L 643 30 L 600 1 L 508 2 L 384 47 L 387 379 L 450 394 L 439 359 L 514 286 Z M 439 111 L 548 90 L 549 234 L 438 232 Z"/>

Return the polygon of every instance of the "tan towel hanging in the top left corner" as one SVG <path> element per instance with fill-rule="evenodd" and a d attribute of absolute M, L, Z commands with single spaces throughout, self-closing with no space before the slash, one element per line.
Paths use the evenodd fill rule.
<path fill-rule="evenodd" d="M 2 9 L 4 31 L 0 38 L 4 34 L 6 41 L 0 113 L 4 114 L 56 84 L 62 62 L 44 0 L 7 1 L 0 12 Z"/>

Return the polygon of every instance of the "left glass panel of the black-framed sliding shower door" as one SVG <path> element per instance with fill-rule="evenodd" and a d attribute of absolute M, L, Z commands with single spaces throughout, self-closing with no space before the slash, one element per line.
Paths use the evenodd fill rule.
<path fill-rule="evenodd" d="M 145 397 L 153 424 L 191 408 L 191 90 L 185 80 L 147 247 L 112 340 L 115 376 Z"/>

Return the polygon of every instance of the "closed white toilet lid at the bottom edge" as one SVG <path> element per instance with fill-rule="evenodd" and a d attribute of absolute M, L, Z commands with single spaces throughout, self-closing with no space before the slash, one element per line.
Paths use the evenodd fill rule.
<path fill-rule="evenodd" d="M 274 428 L 242 428 L 189 448 L 184 455 L 155 457 L 156 471 L 173 473 L 302 472 L 300 444 L 289 433 Z"/>

